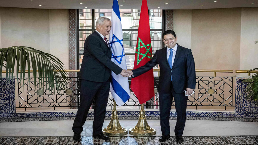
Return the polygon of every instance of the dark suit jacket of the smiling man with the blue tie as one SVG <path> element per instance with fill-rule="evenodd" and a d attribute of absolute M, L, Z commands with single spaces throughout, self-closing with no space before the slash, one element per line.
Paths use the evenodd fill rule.
<path fill-rule="evenodd" d="M 149 71 L 157 64 L 160 66 L 158 86 L 160 93 L 170 92 L 171 74 L 173 89 L 176 93 L 183 93 L 186 88 L 195 89 L 195 63 L 190 49 L 178 45 L 172 69 L 168 64 L 167 47 L 157 50 L 149 62 L 133 70 L 133 77 Z"/>

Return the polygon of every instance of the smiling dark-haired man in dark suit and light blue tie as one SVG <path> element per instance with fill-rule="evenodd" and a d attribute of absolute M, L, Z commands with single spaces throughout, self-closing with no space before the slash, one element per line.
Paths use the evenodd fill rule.
<path fill-rule="evenodd" d="M 133 71 L 126 71 L 132 77 L 137 77 L 159 64 L 159 100 L 160 100 L 160 126 L 162 136 L 159 141 L 170 138 L 169 115 L 172 99 L 176 105 L 176 141 L 183 142 L 182 138 L 188 97 L 195 89 L 195 63 L 190 49 L 181 47 L 176 43 L 177 37 L 174 31 L 165 31 L 162 35 L 167 46 L 157 50 L 153 58 L 144 66 Z M 186 93 L 184 93 L 186 90 Z"/>

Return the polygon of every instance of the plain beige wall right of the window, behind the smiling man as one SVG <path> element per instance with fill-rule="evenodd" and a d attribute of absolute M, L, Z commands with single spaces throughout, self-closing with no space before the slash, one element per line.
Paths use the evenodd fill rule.
<path fill-rule="evenodd" d="M 174 31 L 196 69 L 249 70 L 258 67 L 257 15 L 258 8 L 174 10 Z"/>

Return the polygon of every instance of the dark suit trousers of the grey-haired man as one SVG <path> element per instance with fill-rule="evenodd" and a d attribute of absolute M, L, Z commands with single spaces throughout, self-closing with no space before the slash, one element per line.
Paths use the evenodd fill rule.
<path fill-rule="evenodd" d="M 92 104 L 93 98 L 95 101 L 93 134 L 102 133 L 102 125 L 106 115 L 106 105 L 109 96 L 110 81 L 92 82 L 81 79 L 80 84 L 80 106 L 74 119 L 74 133 L 82 133 L 82 125 L 84 125 L 88 111 Z"/>

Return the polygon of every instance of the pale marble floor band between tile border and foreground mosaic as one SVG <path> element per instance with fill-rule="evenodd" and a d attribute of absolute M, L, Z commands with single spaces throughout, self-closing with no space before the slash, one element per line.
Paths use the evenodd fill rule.
<path fill-rule="evenodd" d="M 120 119 L 123 128 L 133 128 L 137 119 Z M 109 124 L 105 120 L 103 128 Z M 161 136 L 160 120 L 147 120 L 156 129 L 154 136 Z M 73 120 L 0 122 L 0 136 L 73 136 Z M 86 120 L 82 136 L 92 136 L 93 120 Z M 171 136 L 174 134 L 176 120 L 170 120 Z M 183 136 L 258 136 L 258 122 L 186 120 Z M 132 136 L 129 133 L 125 136 Z"/>

